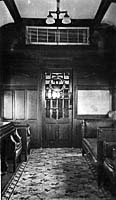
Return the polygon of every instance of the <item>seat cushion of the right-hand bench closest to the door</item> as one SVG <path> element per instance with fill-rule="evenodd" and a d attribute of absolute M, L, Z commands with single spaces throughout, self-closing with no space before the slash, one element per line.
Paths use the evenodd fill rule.
<path fill-rule="evenodd" d="M 97 138 L 83 138 L 83 148 L 92 157 L 93 161 L 97 163 Z"/>

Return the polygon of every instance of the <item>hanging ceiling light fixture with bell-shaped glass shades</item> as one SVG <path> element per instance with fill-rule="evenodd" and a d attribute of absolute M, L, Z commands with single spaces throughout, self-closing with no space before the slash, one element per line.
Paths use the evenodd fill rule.
<path fill-rule="evenodd" d="M 62 19 L 62 23 L 63 24 L 70 24 L 71 19 L 68 15 L 67 11 L 60 11 L 60 0 L 56 0 L 56 1 L 57 1 L 57 10 L 56 11 L 49 11 L 49 15 L 47 16 L 46 23 L 47 24 L 54 24 L 55 23 L 55 19 L 52 16 L 52 14 L 57 15 L 57 20 L 60 19 L 60 14 L 64 14 L 64 17 Z"/>

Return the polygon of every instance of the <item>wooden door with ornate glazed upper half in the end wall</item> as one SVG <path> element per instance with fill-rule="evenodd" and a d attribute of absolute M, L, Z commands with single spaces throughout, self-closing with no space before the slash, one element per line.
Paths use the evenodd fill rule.
<path fill-rule="evenodd" d="M 71 72 L 45 72 L 43 89 L 43 147 L 71 147 Z"/>

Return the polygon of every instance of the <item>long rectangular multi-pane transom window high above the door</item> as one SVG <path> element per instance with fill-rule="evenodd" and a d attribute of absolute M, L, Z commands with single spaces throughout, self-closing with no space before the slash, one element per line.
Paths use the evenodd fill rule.
<path fill-rule="evenodd" d="M 26 44 L 89 45 L 89 27 L 26 26 Z"/>

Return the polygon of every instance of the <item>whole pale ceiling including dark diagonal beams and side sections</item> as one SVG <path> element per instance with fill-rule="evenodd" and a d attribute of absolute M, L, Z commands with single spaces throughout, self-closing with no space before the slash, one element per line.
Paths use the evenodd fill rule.
<path fill-rule="evenodd" d="M 57 6 L 56 0 L 0 0 L 0 26 L 15 21 L 12 11 L 9 12 L 9 6 L 6 6 L 12 4 L 12 1 L 16 4 L 17 10 L 13 6 L 15 16 L 21 18 L 46 18 L 48 12 L 56 10 Z M 111 3 L 107 6 L 109 1 Z M 101 3 L 101 10 L 98 12 Z M 68 11 L 72 19 L 96 18 L 100 22 L 116 26 L 116 0 L 60 0 L 60 10 Z"/>

